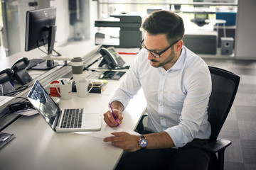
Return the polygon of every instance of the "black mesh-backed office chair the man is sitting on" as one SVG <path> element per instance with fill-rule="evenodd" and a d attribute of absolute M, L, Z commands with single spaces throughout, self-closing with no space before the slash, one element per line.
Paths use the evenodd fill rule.
<path fill-rule="evenodd" d="M 209 70 L 212 78 L 212 93 L 210 94 L 208 104 L 208 121 L 212 132 L 209 143 L 200 148 L 211 154 L 208 169 L 222 170 L 224 168 L 225 148 L 231 145 L 231 141 L 223 139 L 217 140 L 217 137 L 233 105 L 235 95 L 238 91 L 240 77 L 232 72 L 217 67 L 209 66 Z M 137 132 L 139 133 L 144 130 L 142 120 L 145 117 L 146 115 L 142 116 L 137 126 Z"/>

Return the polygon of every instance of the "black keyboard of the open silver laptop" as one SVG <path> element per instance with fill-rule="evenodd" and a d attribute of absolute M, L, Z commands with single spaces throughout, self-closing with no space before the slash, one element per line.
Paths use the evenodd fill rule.
<path fill-rule="evenodd" d="M 60 128 L 81 128 L 82 109 L 65 109 Z"/>

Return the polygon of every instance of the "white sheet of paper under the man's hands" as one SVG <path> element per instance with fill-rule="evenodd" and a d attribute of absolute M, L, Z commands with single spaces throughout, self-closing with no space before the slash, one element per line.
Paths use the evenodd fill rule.
<path fill-rule="evenodd" d="M 108 125 L 106 125 L 106 127 L 100 131 L 97 132 L 75 132 L 75 133 L 79 133 L 79 134 L 83 134 L 83 135 L 90 135 L 93 137 L 99 137 L 104 139 L 105 137 L 110 137 L 113 136 L 111 135 L 112 132 L 127 132 L 131 135 L 139 135 L 139 133 L 133 131 L 133 130 L 129 130 L 127 128 L 110 128 Z"/>

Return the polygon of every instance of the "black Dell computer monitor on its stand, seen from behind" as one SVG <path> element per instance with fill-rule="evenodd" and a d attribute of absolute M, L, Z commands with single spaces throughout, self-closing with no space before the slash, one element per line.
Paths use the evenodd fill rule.
<path fill-rule="evenodd" d="M 46 54 L 52 54 L 57 28 L 57 26 L 55 26 L 55 20 L 55 7 L 35 9 L 26 12 L 25 51 L 47 45 Z M 53 60 L 47 60 L 45 65 L 41 64 L 37 66 L 36 69 L 51 69 L 53 67 L 55 67 Z"/>

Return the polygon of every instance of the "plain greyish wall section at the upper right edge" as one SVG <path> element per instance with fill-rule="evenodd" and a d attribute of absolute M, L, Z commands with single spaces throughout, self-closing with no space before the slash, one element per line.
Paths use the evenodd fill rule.
<path fill-rule="evenodd" d="M 237 29 L 235 30 L 235 57 L 256 60 L 256 1 L 239 0 Z"/>

